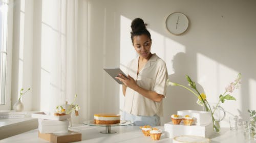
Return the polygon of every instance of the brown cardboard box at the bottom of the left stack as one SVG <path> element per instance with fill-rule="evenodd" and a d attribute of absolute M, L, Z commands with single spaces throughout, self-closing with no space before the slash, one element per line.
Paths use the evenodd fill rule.
<path fill-rule="evenodd" d="M 53 143 L 66 143 L 81 141 L 82 134 L 74 131 L 69 131 L 67 133 L 40 133 L 38 132 L 38 137 L 48 140 Z"/>

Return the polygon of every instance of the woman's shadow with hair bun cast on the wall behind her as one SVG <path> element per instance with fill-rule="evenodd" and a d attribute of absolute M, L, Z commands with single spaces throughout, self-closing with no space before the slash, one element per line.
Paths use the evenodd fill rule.
<path fill-rule="evenodd" d="M 188 87 L 186 80 L 186 74 L 188 73 L 186 72 L 191 71 L 191 69 L 186 65 L 189 61 L 190 59 L 186 53 L 177 53 L 173 59 L 174 74 L 169 75 L 168 79 Z M 200 84 L 197 83 L 197 86 L 199 91 L 203 91 Z M 170 116 L 177 114 L 178 110 L 203 110 L 203 107 L 199 106 L 196 101 L 197 97 L 188 90 L 179 86 L 169 85 L 167 87 L 166 98 L 163 101 L 164 117 L 161 124 L 164 125 L 164 123 L 170 122 Z"/>

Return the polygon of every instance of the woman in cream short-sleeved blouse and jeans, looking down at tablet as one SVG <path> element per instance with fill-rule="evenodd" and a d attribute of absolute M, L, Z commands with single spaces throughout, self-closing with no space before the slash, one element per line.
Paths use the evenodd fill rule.
<path fill-rule="evenodd" d="M 140 18 L 132 21 L 131 39 L 139 56 L 127 65 L 127 78 L 122 74 L 116 78 L 123 82 L 124 120 L 137 126 L 160 126 L 168 74 L 165 62 L 151 53 L 146 25 Z"/>

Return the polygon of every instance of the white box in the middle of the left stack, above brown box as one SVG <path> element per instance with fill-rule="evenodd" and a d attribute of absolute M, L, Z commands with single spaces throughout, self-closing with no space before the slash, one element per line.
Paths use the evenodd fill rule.
<path fill-rule="evenodd" d="M 38 130 L 40 133 L 67 133 L 69 131 L 69 121 L 38 119 Z"/>

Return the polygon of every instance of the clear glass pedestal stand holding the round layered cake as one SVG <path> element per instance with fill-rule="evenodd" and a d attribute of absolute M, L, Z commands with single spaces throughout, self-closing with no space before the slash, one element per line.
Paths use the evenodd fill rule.
<path fill-rule="evenodd" d="M 100 133 L 116 133 L 117 131 L 111 130 L 111 127 L 115 126 L 127 126 L 127 125 L 132 125 L 133 123 L 131 121 L 126 121 L 126 120 L 120 120 L 120 123 L 118 124 L 94 124 L 94 120 L 89 120 L 89 121 L 84 121 L 83 124 L 89 125 L 89 126 L 100 126 L 100 127 L 105 127 L 106 129 L 104 131 L 100 131 Z"/>

